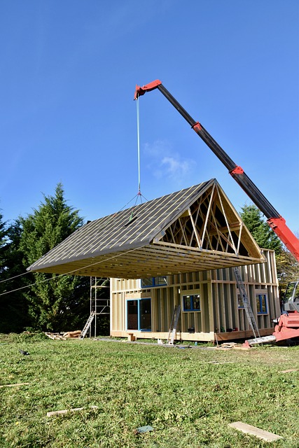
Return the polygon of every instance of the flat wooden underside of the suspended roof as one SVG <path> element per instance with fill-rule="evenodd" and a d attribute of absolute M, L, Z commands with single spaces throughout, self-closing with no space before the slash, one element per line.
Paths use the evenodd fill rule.
<path fill-rule="evenodd" d="M 144 247 L 119 251 L 113 255 L 72 260 L 55 266 L 34 269 L 35 272 L 102 276 L 121 279 L 207 271 L 263 262 L 263 258 L 251 258 L 218 251 L 203 251 L 184 246 L 150 244 Z"/>

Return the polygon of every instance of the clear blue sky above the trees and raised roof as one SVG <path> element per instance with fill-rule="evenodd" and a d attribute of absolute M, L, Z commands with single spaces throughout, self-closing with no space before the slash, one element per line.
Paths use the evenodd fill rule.
<path fill-rule="evenodd" d="M 0 42 L 4 221 L 58 182 L 85 221 L 130 202 L 158 78 L 299 232 L 298 0 L 3 1 Z M 160 92 L 139 106 L 146 199 L 216 178 L 251 203 Z"/>

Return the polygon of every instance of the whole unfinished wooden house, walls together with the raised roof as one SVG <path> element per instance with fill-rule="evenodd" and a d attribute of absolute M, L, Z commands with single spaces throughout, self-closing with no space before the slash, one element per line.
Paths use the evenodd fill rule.
<path fill-rule="evenodd" d="M 274 255 L 262 253 L 221 186 L 211 179 L 91 221 L 28 270 L 111 277 L 114 336 L 131 330 L 126 316 L 127 306 L 132 305 L 132 309 L 151 307 L 151 330 L 138 324 L 132 328 L 137 336 L 152 333 L 151 337 L 164 338 L 174 305 L 187 300 L 184 295 L 192 296 L 191 302 L 198 295 L 200 309 L 193 304 L 187 311 L 182 302 L 178 337 L 214 340 L 215 334 L 225 337 L 228 329 L 236 330 L 235 337 L 248 330 L 244 310 L 237 307 L 231 269 L 236 266 L 242 266 L 259 328 L 269 331 L 270 319 L 279 314 Z M 167 285 L 141 288 L 140 279 L 160 277 L 167 278 Z M 267 315 L 260 316 L 256 309 L 256 286 L 267 290 Z"/>

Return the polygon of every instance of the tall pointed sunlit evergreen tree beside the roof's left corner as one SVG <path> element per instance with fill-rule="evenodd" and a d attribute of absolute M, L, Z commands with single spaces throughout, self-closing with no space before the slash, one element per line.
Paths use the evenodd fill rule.
<path fill-rule="evenodd" d="M 20 224 L 20 250 L 23 265 L 28 267 L 80 227 L 83 218 L 67 205 L 58 183 L 55 195 L 43 195 L 43 202 L 27 218 L 21 217 Z M 82 325 L 89 306 L 88 277 L 41 272 L 31 276 L 32 286 L 25 295 L 34 328 L 61 331 Z"/>

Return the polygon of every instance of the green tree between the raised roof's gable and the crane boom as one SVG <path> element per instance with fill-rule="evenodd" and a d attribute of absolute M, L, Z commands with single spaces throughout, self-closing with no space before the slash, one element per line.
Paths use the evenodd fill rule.
<path fill-rule="evenodd" d="M 240 216 L 260 248 L 272 249 L 275 255 L 281 253 L 282 243 L 279 237 L 264 221 L 262 212 L 255 205 L 242 207 Z"/>

